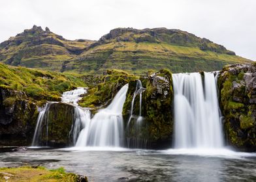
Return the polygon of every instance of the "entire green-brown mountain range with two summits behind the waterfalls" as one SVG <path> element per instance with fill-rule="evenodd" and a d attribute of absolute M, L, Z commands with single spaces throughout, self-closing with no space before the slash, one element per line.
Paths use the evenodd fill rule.
<path fill-rule="evenodd" d="M 0 62 L 58 72 L 103 73 L 106 69 L 144 73 L 221 70 L 251 60 L 223 45 L 177 29 L 113 29 L 98 41 L 66 40 L 33 26 L 0 44 Z"/>

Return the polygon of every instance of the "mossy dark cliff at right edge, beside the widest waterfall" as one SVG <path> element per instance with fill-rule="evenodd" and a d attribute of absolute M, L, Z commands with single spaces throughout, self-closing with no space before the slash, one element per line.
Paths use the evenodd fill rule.
<path fill-rule="evenodd" d="M 228 144 L 242 151 L 256 151 L 256 64 L 226 66 L 218 86 Z"/>

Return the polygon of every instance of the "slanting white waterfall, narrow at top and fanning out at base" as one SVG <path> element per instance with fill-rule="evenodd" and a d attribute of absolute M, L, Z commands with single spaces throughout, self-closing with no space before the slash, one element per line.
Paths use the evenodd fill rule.
<path fill-rule="evenodd" d="M 76 142 L 76 147 L 120 147 L 122 145 L 122 110 L 127 90 L 128 85 L 123 86 L 108 107 L 99 110 L 91 121 L 85 123 Z"/>

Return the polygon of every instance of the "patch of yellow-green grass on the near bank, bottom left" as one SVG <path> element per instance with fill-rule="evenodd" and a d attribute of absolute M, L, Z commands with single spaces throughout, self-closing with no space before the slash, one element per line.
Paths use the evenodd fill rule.
<path fill-rule="evenodd" d="M 5 178 L 4 178 L 5 177 Z M 66 173 L 64 168 L 56 170 L 47 170 L 39 166 L 32 168 L 31 166 L 22 166 L 18 168 L 0 168 L 0 181 L 78 181 L 78 176 L 72 173 Z"/>

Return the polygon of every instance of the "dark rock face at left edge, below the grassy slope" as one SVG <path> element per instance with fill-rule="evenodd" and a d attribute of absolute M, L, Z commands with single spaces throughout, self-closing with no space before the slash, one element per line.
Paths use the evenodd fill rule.
<path fill-rule="evenodd" d="M 24 92 L 0 86 L 0 145 L 31 144 L 37 113 Z"/>

